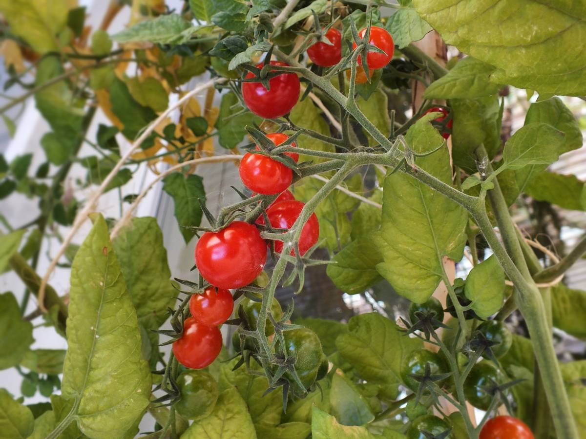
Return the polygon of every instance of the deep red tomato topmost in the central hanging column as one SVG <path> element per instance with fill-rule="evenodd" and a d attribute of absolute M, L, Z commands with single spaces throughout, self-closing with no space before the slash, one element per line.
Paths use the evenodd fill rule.
<path fill-rule="evenodd" d="M 257 65 L 263 68 L 264 63 Z M 288 66 L 280 61 L 271 61 L 271 66 Z M 247 79 L 253 78 L 254 74 L 248 72 Z M 268 81 L 270 90 L 267 90 L 261 83 L 243 83 L 242 97 L 247 107 L 254 114 L 265 119 L 278 118 L 287 114 L 299 100 L 299 78 L 295 73 L 283 73 Z"/>

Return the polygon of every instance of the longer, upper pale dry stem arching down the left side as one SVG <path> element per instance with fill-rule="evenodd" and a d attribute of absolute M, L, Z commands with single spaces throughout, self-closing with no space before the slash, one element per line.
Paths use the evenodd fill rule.
<path fill-rule="evenodd" d="M 47 309 L 45 308 L 45 304 L 43 304 L 43 299 L 45 298 L 45 287 L 46 287 L 47 282 L 49 280 L 49 276 L 51 275 L 51 273 L 53 273 L 53 270 L 57 266 L 57 262 L 59 262 L 59 258 L 61 258 L 61 256 L 63 256 L 63 254 L 65 253 L 67 246 L 69 246 L 69 244 L 71 243 L 71 239 L 73 239 L 73 236 L 75 236 L 77 231 L 79 231 L 81 225 L 86 221 L 86 219 L 87 219 L 88 215 L 91 213 L 91 211 L 93 211 L 94 208 L 96 208 L 96 204 L 97 204 L 98 200 L 100 199 L 101 195 L 104 193 L 105 188 L 108 186 L 108 184 L 110 184 L 110 181 L 112 181 L 114 179 L 114 177 L 118 174 L 118 171 L 121 169 L 121 167 L 124 166 L 124 164 L 132 156 L 132 154 L 135 152 L 135 150 L 137 150 L 140 147 L 141 143 L 144 142 L 144 140 L 147 139 L 148 136 L 154 131 L 155 127 L 158 126 L 162 121 L 164 121 L 165 118 L 169 114 L 171 114 L 171 112 L 173 110 L 175 110 L 176 108 L 179 108 L 180 105 L 182 105 L 184 102 L 188 101 L 191 97 L 193 97 L 197 93 L 199 93 L 203 90 L 206 90 L 209 87 L 213 87 L 215 84 L 223 83 L 224 81 L 226 81 L 225 78 L 216 78 L 214 80 L 210 80 L 210 81 L 207 81 L 206 83 L 198 85 L 197 87 L 193 88 L 193 90 L 186 93 L 182 98 L 180 98 L 177 102 L 175 102 L 175 104 L 171 105 L 164 112 L 162 112 L 162 114 L 158 118 L 156 118 L 153 122 L 151 122 L 151 124 L 148 125 L 147 128 L 138 137 L 138 139 L 135 140 L 134 143 L 132 143 L 130 149 L 128 149 L 128 151 L 124 154 L 124 156 L 122 156 L 121 159 L 118 160 L 118 163 L 116 164 L 116 166 L 113 167 L 113 169 L 110 171 L 110 173 L 105 177 L 104 181 L 102 181 L 102 184 L 100 185 L 100 187 L 98 187 L 97 191 L 87 200 L 87 203 L 86 203 L 86 205 L 84 205 L 84 208 L 79 212 L 79 214 L 77 214 L 76 219 L 73 222 L 73 225 L 71 226 L 71 230 L 69 231 L 67 236 L 65 236 L 65 238 L 63 239 L 63 242 L 62 242 L 61 246 L 59 247 L 59 250 L 57 250 L 56 255 L 53 257 L 53 259 L 51 260 L 51 263 L 49 264 L 49 267 L 47 268 L 47 272 L 45 273 L 45 276 L 43 276 L 43 279 L 41 280 L 41 284 L 39 287 L 38 300 L 39 300 L 39 308 L 41 308 L 41 310 L 43 310 L 43 312 L 45 312 L 45 313 L 47 312 Z"/>

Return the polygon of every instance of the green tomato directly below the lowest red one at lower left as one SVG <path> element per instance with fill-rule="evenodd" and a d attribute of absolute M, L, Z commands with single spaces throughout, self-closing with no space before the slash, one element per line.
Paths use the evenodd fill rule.
<path fill-rule="evenodd" d="M 212 375 L 189 369 L 177 378 L 181 399 L 175 410 L 187 419 L 202 419 L 212 413 L 218 399 L 218 386 Z"/>

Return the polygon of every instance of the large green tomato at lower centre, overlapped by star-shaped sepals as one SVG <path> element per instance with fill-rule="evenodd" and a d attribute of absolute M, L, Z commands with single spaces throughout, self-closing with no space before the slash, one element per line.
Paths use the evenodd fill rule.
<path fill-rule="evenodd" d="M 305 393 L 315 382 L 318 376 L 318 369 L 322 362 L 322 344 L 319 337 L 309 328 L 296 328 L 294 330 L 283 331 L 285 338 L 285 348 L 287 349 L 287 358 L 294 357 L 295 372 L 299 376 L 305 389 L 298 389 Z M 279 344 L 277 353 L 284 355 L 284 349 Z M 285 376 L 295 386 L 295 381 L 291 373 L 285 372 Z"/>

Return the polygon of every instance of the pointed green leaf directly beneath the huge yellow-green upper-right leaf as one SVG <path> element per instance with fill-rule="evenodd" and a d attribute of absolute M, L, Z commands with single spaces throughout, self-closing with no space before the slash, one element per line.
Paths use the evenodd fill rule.
<path fill-rule="evenodd" d="M 458 61 L 446 76 L 425 89 L 426 99 L 473 99 L 496 94 L 499 85 L 490 82 L 495 67 L 472 57 Z"/>

